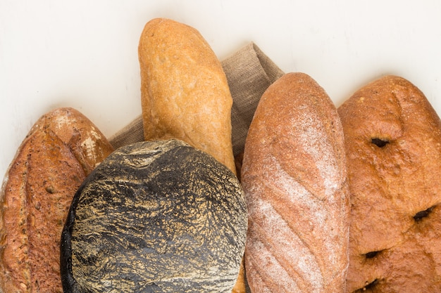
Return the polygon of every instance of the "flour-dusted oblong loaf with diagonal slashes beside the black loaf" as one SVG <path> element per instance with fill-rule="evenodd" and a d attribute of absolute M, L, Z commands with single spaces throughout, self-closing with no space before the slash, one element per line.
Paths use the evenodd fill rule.
<path fill-rule="evenodd" d="M 337 110 L 307 74 L 268 87 L 245 143 L 251 292 L 344 292 L 349 200 Z"/>

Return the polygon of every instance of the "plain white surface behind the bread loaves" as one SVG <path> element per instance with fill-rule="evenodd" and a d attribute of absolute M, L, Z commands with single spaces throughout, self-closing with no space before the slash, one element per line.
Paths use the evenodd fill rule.
<path fill-rule="evenodd" d="M 0 0 L 0 176 L 52 108 L 77 108 L 107 136 L 141 113 L 137 44 L 156 17 L 197 28 L 220 59 L 254 41 L 337 106 L 398 74 L 441 113 L 439 0 Z"/>

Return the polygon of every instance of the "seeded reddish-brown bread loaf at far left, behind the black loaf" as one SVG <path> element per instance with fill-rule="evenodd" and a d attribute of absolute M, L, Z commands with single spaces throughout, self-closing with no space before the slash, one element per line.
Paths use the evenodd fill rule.
<path fill-rule="evenodd" d="M 82 180 L 112 151 L 72 108 L 43 115 L 6 174 L 0 195 L 0 292 L 63 292 L 60 237 Z"/>

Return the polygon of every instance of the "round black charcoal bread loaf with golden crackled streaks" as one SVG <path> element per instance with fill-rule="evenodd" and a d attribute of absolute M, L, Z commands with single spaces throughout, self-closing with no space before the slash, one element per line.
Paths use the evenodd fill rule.
<path fill-rule="evenodd" d="M 237 177 L 175 139 L 113 152 L 75 194 L 62 235 L 65 292 L 228 292 L 244 253 Z"/>

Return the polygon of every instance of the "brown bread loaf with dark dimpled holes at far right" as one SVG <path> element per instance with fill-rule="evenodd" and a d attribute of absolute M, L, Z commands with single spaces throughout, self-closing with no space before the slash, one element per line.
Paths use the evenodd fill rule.
<path fill-rule="evenodd" d="M 385 76 L 339 108 L 351 209 L 347 292 L 441 292 L 441 122 Z"/>

